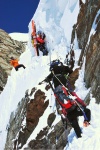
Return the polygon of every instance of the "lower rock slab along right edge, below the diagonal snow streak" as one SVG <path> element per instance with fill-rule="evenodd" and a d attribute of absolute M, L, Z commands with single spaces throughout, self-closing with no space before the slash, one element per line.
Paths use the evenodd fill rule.
<path fill-rule="evenodd" d="M 85 82 L 87 87 L 91 87 L 97 103 L 100 103 L 100 22 L 86 51 Z"/>

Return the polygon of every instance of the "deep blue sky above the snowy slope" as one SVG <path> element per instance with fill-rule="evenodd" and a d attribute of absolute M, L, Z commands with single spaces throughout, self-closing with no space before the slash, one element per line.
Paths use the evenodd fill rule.
<path fill-rule="evenodd" d="M 0 29 L 7 33 L 28 32 L 28 24 L 40 0 L 0 0 Z"/>

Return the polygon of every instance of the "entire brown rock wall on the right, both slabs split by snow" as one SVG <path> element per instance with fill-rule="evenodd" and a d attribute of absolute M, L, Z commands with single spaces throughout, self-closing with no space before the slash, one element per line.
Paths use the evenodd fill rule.
<path fill-rule="evenodd" d="M 95 17 L 99 9 L 100 0 L 86 0 L 85 4 L 81 4 L 77 23 L 73 26 L 71 39 L 71 42 L 74 43 L 76 33 L 79 48 L 82 49 L 79 65 L 82 65 L 85 56 L 84 80 L 87 88 L 91 87 L 91 92 L 98 103 L 100 102 L 100 14 L 97 20 L 95 20 Z M 94 20 L 95 24 L 97 24 L 96 32 L 94 35 L 91 35 L 89 40 Z"/>

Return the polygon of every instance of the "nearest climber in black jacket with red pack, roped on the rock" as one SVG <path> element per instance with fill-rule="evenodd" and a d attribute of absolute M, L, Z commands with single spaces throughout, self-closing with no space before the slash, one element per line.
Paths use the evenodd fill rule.
<path fill-rule="evenodd" d="M 69 93 L 69 90 L 66 89 L 65 74 L 70 75 L 73 71 L 68 66 L 62 65 L 59 60 L 52 61 L 50 71 L 51 73 L 44 81 L 48 82 L 53 89 L 56 100 L 62 107 L 63 119 L 69 120 L 77 137 L 80 138 L 82 131 L 77 117 L 84 116 L 83 125 L 87 127 L 90 124 L 91 112 L 75 92 L 70 91 Z M 51 80 L 53 81 L 54 88 L 50 82 Z"/>

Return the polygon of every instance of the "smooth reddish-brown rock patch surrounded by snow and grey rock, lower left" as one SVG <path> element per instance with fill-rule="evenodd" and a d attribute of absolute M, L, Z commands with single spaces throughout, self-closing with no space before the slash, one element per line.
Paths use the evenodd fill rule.
<path fill-rule="evenodd" d="M 38 124 L 39 118 L 43 115 L 48 106 L 48 101 L 44 103 L 46 96 L 41 90 L 35 93 L 34 99 L 27 106 L 26 123 L 27 128 L 33 131 Z"/>

